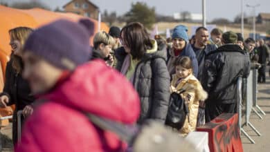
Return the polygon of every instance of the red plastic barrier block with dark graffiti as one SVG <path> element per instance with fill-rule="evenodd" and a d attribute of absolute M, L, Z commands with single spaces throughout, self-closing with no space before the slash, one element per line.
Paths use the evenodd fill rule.
<path fill-rule="evenodd" d="M 197 131 L 208 132 L 211 152 L 243 151 L 237 113 L 222 113 L 215 120 L 197 127 Z"/>

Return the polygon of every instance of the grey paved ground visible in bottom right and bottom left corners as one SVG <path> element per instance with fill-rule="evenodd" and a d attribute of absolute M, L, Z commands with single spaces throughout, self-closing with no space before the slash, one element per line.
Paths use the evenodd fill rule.
<path fill-rule="evenodd" d="M 258 131 L 260 131 L 261 136 L 258 136 L 249 126 L 244 126 L 246 133 L 255 140 L 255 144 L 251 142 L 242 135 L 242 143 L 244 146 L 244 152 L 269 152 L 270 151 L 270 79 L 267 79 L 266 84 L 259 84 L 259 93 L 258 93 L 258 105 L 263 109 L 267 115 L 263 116 L 261 120 L 255 113 L 251 114 L 250 122 L 255 126 Z M 4 136 L 2 137 L 3 142 L 3 152 L 11 152 L 11 126 L 7 126 L 1 129 L 1 133 Z"/>

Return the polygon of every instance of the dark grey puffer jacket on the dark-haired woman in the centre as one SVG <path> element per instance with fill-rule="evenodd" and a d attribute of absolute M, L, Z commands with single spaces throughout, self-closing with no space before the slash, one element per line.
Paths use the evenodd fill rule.
<path fill-rule="evenodd" d="M 165 122 L 170 98 L 170 75 L 165 63 L 165 48 L 155 53 L 145 53 L 134 72 L 133 86 L 141 99 L 141 115 L 138 123 L 147 119 Z M 124 48 L 116 50 L 120 71 L 125 59 Z"/>

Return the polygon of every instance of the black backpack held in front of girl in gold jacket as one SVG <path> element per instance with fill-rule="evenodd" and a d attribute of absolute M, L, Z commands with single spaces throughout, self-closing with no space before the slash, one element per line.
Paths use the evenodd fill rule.
<path fill-rule="evenodd" d="M 183 92 L 185 91 L 171 93 L 168 114 L 165 121 L 166 125 L 178 130 L 183 127 L 188 116 L 188 106 L 186 106 L 185 100 L 180 95 Z"/>

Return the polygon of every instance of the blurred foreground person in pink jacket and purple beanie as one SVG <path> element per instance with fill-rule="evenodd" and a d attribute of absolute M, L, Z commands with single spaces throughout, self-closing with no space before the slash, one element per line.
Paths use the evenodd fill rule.
<path fill-rule="evenodd" d="M 126 144 L 116 134 L 100 129 L 84 115 L 133 124 L 140 111 L 138 95 L 125 77 L 104 61 L 87 63 L 89 27 L 93 23 L 85 19 L 79 23 L 58 20 L 28 37 L 23 77 L 39 99 L 15 151 L 125 150 Z"/>

